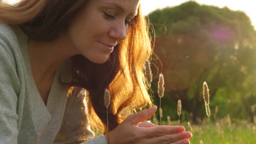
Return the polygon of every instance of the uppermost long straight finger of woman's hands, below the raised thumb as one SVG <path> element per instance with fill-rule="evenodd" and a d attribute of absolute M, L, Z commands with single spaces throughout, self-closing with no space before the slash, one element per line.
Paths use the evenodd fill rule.
<path fill-rule="evenodd" d="M 177 134 L 185 130 L 182 126 L 158 125 L 150 128 L 139 129 L 140 133 L 148 137 L 162 136 L 166 134 Z"/>

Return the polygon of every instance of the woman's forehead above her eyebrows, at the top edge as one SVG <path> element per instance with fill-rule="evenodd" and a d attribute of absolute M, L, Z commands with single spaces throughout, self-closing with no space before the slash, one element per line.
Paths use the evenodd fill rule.
<path fill-rule="evenodd" d="M 95 1 L 95 0 L 91 0 Z M 136 13 L 139 6 L 139 0 L 96 0 L 102 4 L 112 5 L 127 13 Z"/>

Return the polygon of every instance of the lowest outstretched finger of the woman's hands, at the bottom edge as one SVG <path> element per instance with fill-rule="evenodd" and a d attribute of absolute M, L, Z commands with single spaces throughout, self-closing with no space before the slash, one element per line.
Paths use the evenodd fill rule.
<path fill-rule="evenodd" d="M 185 131 L 177 134 L 152 137 L 148 140 L 155 143 L 172 143 L 173 144 L 173 143 L 179 143 L 181 141 L 188 141 L 187 139 L 189 139 L 191 136 L 192 134 L 190 132 Z"/>

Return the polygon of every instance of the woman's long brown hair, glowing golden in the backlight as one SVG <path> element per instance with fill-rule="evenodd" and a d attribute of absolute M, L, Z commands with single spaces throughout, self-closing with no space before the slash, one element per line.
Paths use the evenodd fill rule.
<path fill-rule="evenodd" d="M 85 0 L 23 0 L 15 5 L 2 5 L 0 21 L 19 25 L 31 39 L 53 40 L 68 28 L 74 15 L 85 4 Z M 106 132 L 106 107 L 103 101 L 106 88 L 112 98 L 109 105 L 110 130 L 123 121 L 124 111 L 151 104 L 143 73 L 144 61 L 151 55 L 148 25 L 139 7 L 126 39 L 115 47 L 106 63 L 95 64 L 81 55 L 71 58 L 73 74 L 79 80 L 71 86 L 82 87 L 89 92 L 88 112 L 94 128 Z"/>

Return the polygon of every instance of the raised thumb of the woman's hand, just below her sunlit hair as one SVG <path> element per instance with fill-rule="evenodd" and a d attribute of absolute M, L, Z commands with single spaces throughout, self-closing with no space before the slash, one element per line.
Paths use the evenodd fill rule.
<path fill-rule="evenodd" d="M 156 106 L 152 106 L 150 107 L 150 109 L 139 111 L 127 117 L 126 121 L 131 122 L 131 124 L 137 125 L 139 122 L 142 122 L 154 115 L 156 109 Z"/>

